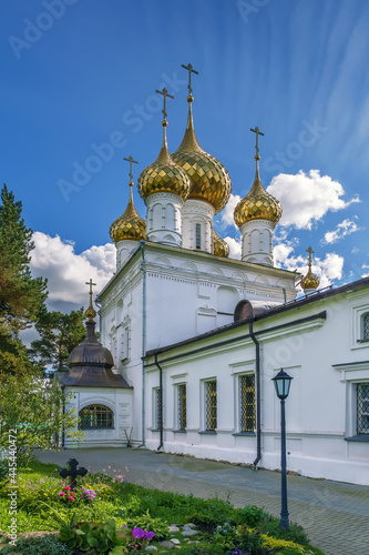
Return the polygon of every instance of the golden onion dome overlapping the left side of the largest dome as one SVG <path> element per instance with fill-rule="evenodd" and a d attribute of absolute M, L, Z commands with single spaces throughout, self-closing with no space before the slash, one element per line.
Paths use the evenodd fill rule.
<path fill-rule="evenodd" d="M 163 128 L 162 150 L 155 162 L 141 173 L 139 192 L 144 200 L 153 193 L 168 192 L 177 194 L 185 201 L 189 192 L 189 180 L 186 173 L 174 163 L 167 150 L 165 120 L 163 121 Z"/>

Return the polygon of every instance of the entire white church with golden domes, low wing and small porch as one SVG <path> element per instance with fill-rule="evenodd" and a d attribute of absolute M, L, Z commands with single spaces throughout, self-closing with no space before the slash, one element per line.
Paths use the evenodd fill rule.
<path fill-rule="evenodd" d="M 192 67 L 188 65 L 189 75 Z M 88 309 L 88 336 L 63 384 L 85 431 L 83 446 L 280 466 L 280 403 L 271 379 L 291 377 L 287 467 L 369 484 L 369 279 L 319 291 L 311 271 L 274 266 L 281 206 L 256 175 L 234 218 L 242 260 L 214 231 L 229 200 L 228 172 L 196 139 L 188 85 L 181 145 L 163 144 L 139 178 L 143 220 L 130 201 L 111 225 L 116 272 Z M 297 296 L 300 284 L 304 295 Z M 89 327 L 90 326 L 90 327 Z M 65 440 L 66 447 L 75 444 Z"/>

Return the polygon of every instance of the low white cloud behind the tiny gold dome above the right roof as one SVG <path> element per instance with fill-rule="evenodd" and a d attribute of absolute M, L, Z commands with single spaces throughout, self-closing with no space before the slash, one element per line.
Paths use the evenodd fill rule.
<path fill-rule="evenodd" d="M 307 256 L 294 255 L 294 248 L 288 244 L 278 244 L 274 248 L 275 265 L 285 270 L 297 271 L 303 275 L 308 272 Z M 315 258 L 312 272 L 319 278 L 319 289 L 327 287 L 335 280 L 341 280 L 344 271 L 344 256 L 328 252 L 325 259 Z"/>

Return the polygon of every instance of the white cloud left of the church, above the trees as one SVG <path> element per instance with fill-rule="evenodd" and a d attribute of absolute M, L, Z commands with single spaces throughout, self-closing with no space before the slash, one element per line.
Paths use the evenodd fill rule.
<path fill-rule="evenodd" d="M 85 282 L 92 278 L 95 291 L 101 291 L 115 270 L 115 246 L 111 243 L 91 246 L 81 254 L 74 252 L 71 241 L 59 235 L 51 238 L 39 231 L 33 233 L 34 249 L 31 252 L 33 276 L 48 278 L 51 310 L 65 311 L 86 305 Z"/>

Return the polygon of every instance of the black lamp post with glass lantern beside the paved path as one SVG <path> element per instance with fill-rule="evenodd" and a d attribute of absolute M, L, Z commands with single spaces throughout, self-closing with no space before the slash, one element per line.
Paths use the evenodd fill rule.
<path fill-rule="evenodd" d="M 288 506 L 287 506 L 287 464 L 286 464 L 286 414 L 285 403 L 288 397 L 289 386 L 293 377 L 283 369 L 273 377 L 276 393 L 280 400 L 280 471 L 281 471 L 281 511 L 280 527 L 289 528 Z"/>

